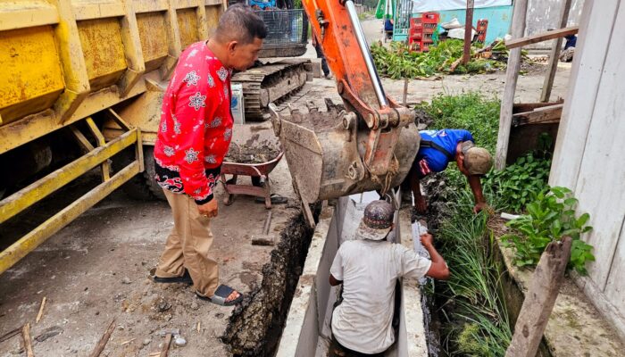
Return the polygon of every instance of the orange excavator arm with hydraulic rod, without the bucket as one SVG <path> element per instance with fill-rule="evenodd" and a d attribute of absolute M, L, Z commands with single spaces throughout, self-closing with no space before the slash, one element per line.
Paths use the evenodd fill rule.
<path fill-rule="evenodd" d="M 338 93 L 371 129 L 364 163 L 372 174 L 384 175 L 392 160 L 396 131 L 411 123 L 414 114 L 384 92 L 352 0 L 304 0 L 302 4 L 337 78 Z M 384 129 L 390 130 L 383 134 Z"/>

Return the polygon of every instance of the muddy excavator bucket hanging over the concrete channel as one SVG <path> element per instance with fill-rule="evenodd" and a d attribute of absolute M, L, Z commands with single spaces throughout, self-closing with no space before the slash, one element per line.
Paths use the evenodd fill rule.
<path fill-rule="evenodd" d="M 419 149 L 414 123 L 401 128 L 388 172 L 377 176 L 362 161 L 371 129 L 354 112 L 326 103 L 327 111 L 322 112 L 317 108 L 277 111 L 272 107 L 273 128 L 302 199 L 313 203 L 365 191 L 386 192 L 399 186 Z"/>

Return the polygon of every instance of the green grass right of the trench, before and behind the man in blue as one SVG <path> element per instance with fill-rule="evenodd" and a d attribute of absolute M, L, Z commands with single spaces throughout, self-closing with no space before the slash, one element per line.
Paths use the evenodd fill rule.
<path fill-rule="evenodd" d="M 468 129 L 476 144 L 494 152 L 499 121 L 499 101 L 479 93 L 437 95 L 421 108 L 432 116 L 432 129 Z M 444 301 L 446 327 L 443 347 L 450 356 L 503 356 L 512 338 L 500 277 L 502 270 L 493 258 L 496 242 L 487 228 L 487 213 L 472 212 L 473 196 L 466 179 L 455 168 L 441 177 L 446 202 L 437 229 L 437 242 L 451 270 L 447 282 L 437 284 L 438 300 Z M 485 187 L 488 202 L 492 190 Z"/>

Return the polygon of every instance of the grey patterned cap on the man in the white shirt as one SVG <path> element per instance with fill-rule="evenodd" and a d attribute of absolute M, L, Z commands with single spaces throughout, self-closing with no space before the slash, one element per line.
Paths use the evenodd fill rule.
<path fill-rule="evenodd" d="M 360 226 L 356 230 L 356 237 L 371 240 L 384 239 L 393 226 L 394 216 L 393 206 L 386 201 L 378 200 L 367 204 Z"/>

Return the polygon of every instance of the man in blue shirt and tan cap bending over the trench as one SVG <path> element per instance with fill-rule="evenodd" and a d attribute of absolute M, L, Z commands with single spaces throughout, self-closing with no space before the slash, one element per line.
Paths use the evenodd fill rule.
<path fill-rule="evenodd" d="M 473 144 L 473 137 L 468 130 L 442 129 L 421 130 L 419 152 L 408 173 L 408 182 L 414 195 L 417 212 L 426 211 L 428 204 L 421 195 L 420 180 L 431 172 L 445 170 L 449 162 L 455 161 L 458 169 L 467 177 L 475 197 L 473 212 L 479 212 L 487 206 L 482 193 L 479 177 L 490 170 L 493 160 L 488 151 Z"/>

